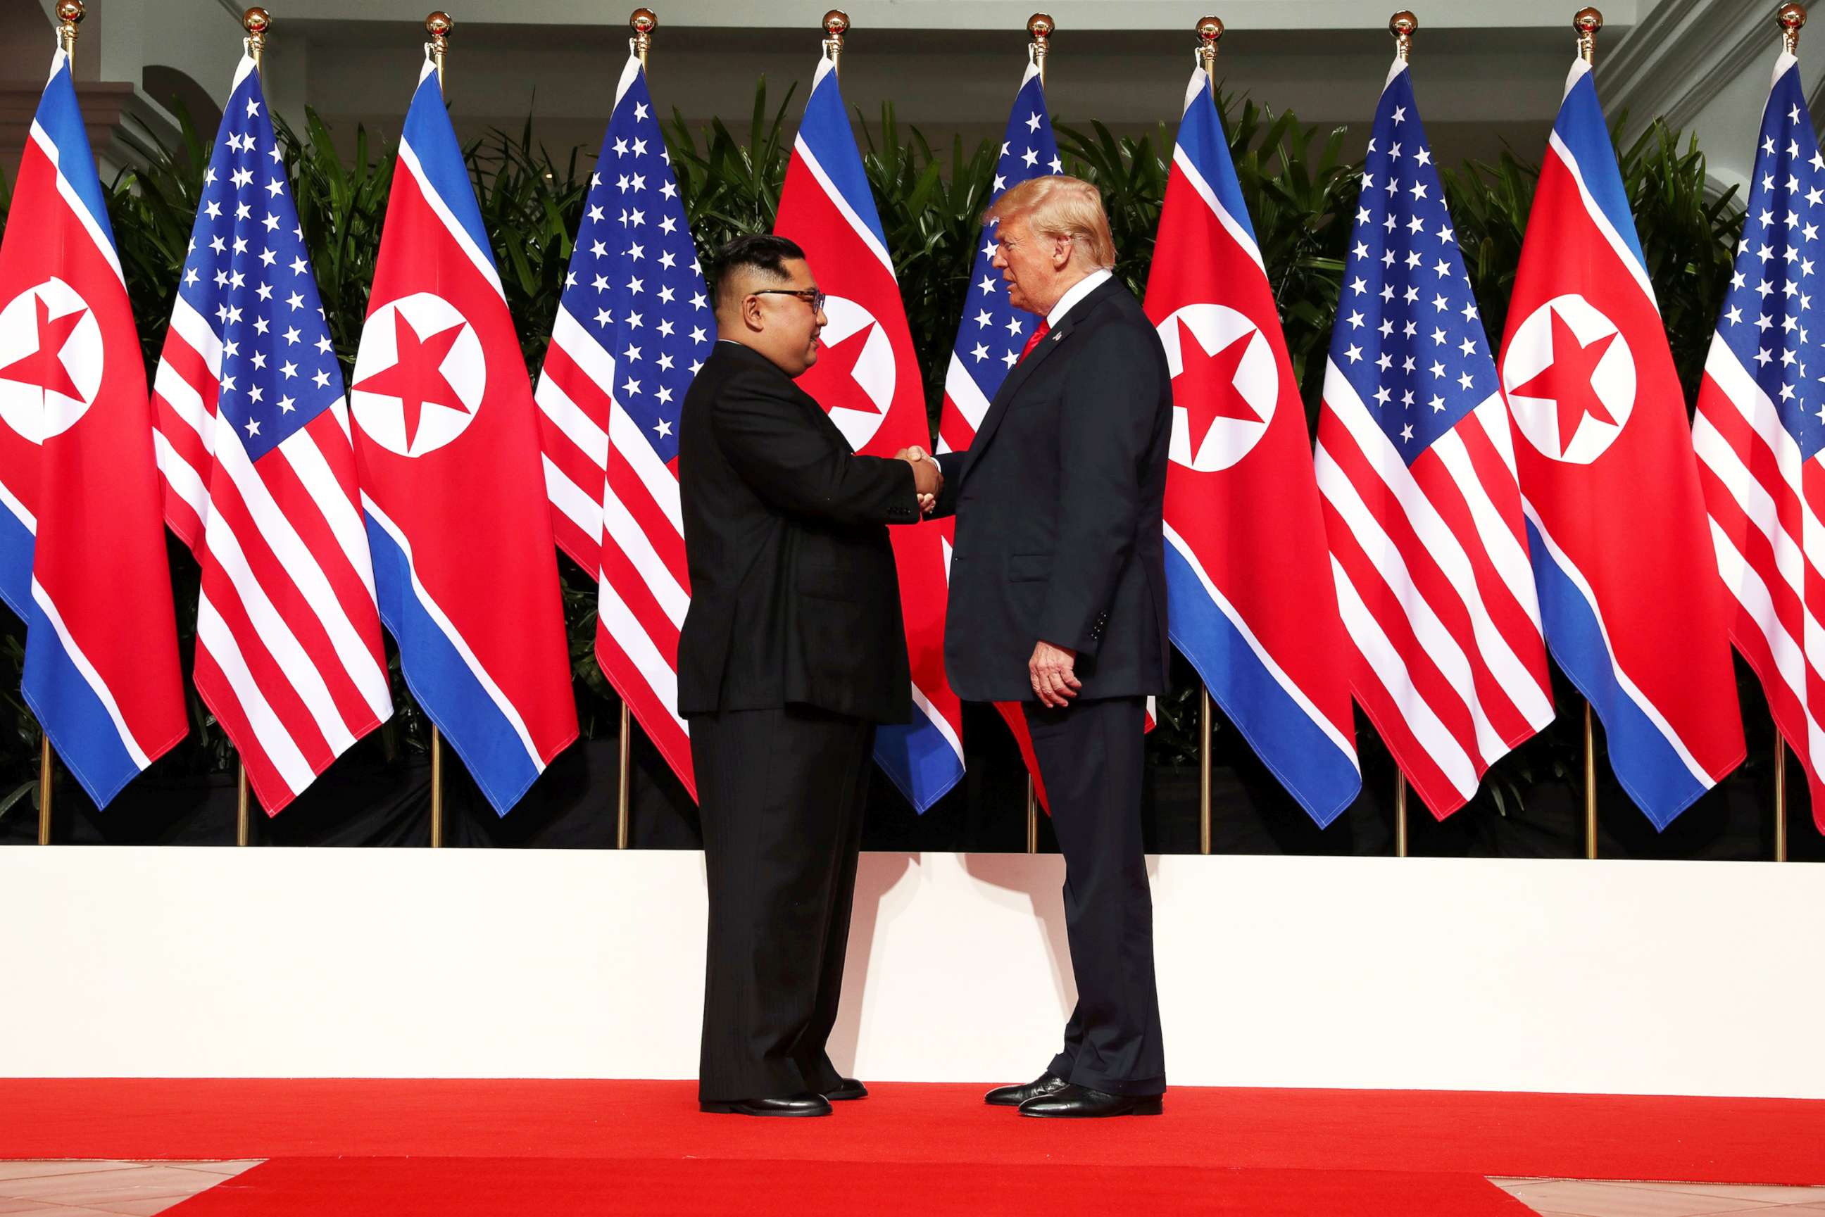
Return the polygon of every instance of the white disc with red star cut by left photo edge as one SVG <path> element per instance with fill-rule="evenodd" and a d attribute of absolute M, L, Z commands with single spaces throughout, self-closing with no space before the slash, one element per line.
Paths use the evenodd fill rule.
<path fill-rule="evenodd" d="M 0 308 L 0 420 L 44 443 L 77 425 L 106 365 L 95 310 L 62 279 L 26 288 Z"/>

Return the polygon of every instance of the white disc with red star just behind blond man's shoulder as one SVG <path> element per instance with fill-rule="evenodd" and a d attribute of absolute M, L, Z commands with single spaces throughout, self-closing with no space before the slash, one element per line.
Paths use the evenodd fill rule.
<path fill-rule="evenodd" d="M 1183 323 L 1183 325 L 1181 325 Z M 1279 405 L 1279 369 L 1274 365 L 1274 347 L 1254 321 L 1236 312 L 1228 305 L 1186 305 L 1172 312 L 1159 323 L 1159 341 L 1166 348 L 1166 369 L 1173 380 L 1172 442 L 1166 454 L 1179 465 L 1194 473 L 1215 473 L 1228 469 L 1246 456 L 1268 423 L 1274 421 L 1274 407 Z M 1184 330 L 1197 339 L 1199 350 L 1181 347 Z M 1241 350 L 1236 345 L 1243 343 Z M 1214 356 L 1228 354 L 1236 372 L 1228 381 L 1234 396 L 1225 398 L 1223 407 L 1230 414 L 1252 412 L 1256 418 L 1237 418 L 1228 414 L 1210 416 L 1181 400 L 1181 376 L 1188 363 L 1203 363 Z M 1183 389 L 1192 389 L 1190 383 Z M 1201 392 L 1212 385 L 1199 383 Z M 1203 431 L 1195 436 L 1194 431 Z M 1192 447 L 1197 445 L 1194 452 Z"/>

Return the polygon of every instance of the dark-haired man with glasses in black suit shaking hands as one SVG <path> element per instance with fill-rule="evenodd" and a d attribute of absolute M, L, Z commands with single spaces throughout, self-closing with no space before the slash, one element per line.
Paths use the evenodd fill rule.
<path fill-rule="evenodd" d="M 912 715 L 889 524 L 918 524 L 929 458 L 856 456 L 792 383 L 823 294 L 785 237 L 719 255 L 719 341 L 679 421 L 690 723 L 710 889 L 704 1111 L 829 1115 L 861 1098 L 825 1055 L 849 943 L 878 723 Z"/>

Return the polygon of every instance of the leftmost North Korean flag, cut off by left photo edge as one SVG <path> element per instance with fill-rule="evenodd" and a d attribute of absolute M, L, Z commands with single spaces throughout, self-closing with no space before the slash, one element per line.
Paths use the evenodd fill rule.
<path fill-rule="evenodd" d="M 95 157 L 58 51 L 0 244 L 0 598 L 26 704 L 106 806 L 184 737 L 151 401 Z"/>

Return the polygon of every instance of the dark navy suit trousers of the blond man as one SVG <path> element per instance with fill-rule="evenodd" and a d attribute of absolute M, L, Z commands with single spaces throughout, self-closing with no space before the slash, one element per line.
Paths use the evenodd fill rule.
<path fill-rule="evenodd" d="M 1077 978 L 1077 1009 L 1049 1073 L 1110 1095 L 1161 1095 L 1166 1051 L 1141 845 L 1146 701 L 1022 704 L 1064 854 L 1064 927 Z"/>

